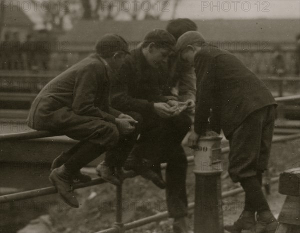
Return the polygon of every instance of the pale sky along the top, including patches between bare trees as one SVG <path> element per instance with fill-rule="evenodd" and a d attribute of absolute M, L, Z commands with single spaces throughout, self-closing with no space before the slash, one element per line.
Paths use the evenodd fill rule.
<path fill-rule="evenodd" d="M 37 0 L 35 2 L 57 2 L 57 0 Z M 71 1 L 71 0 L 70 0 Z M 96 0 L 90 0 L 95 5 Z M 134 8 L 134 1 L 143 2 L 142 0 L 114 0 L 118 2 L 127 2 L 131 7 Z M 11 2 L 11 1 L 5 1 Z M 21 6 L 24 2 L 30 2 L 28 0 L 13 0 L 18 2 Z M 80 1 L 76 0 L 76 5 Z M 111 0 L 102 0 L 104 5 L 105 2 L 111 2 Z M 160 19 L 169 20 L 171 18 L 188 17 L 191 19 L 252 19 L 252 18 L 298 18 L 300 20 L 300 0 L 146 0 L 151 2 L 151 14 L 160 15 Z M 174 7 L 176 10 L 174 11 Z M 25 7 L 20 7 L 21 9 Z M 31 4 L 31 8 L 28 11 L 24 11 L 28 17 L 35 22 L 35 29 L 40 29 L 43 26 L 42 15 L 46 11 L 33 10 L 34 7 Z M 80 7 L 82 7 L 80 5 Z M 79 7 L 79 8 L 80 8 Z M 141 3 L 137 7 L 143 7 L 147 9 L 148 5 L 145 3 L 141 6 Z M 78 7 L 77 7 L 78 8 Z M 60 10 L 62 10 L 61 8 Z M 104 7 L 105 10 L 105 7 Z M 131 16 L 128 11 L 120 12 L 117 7 L 113 8 L 113 13 L 118 13 L 116 20 L 130 20 Z M 145 10 L 139 10 L 139 16 L 137 19 L 142 19 L 146 12 Z M 101 13 L 101 12 L 100 12 Z M 66 23 L 67 24 L 67 23 Z M 70 24 L 70 23 L 68 23 Z M 69 29 L 71 26 L 68 27 Z"/>

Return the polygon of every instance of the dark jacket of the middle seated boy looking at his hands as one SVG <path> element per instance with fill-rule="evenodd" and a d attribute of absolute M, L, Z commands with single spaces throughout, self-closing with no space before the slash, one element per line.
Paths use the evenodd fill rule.
<path fill-rule="evenodd" d="M 148 113 L 153 103 L 166 102 L 170 94 L 167 72 L 163 67 L 151 67 L 141 48 L 125 58 L 111 82 L 111 104 L 120 111 Z"/>

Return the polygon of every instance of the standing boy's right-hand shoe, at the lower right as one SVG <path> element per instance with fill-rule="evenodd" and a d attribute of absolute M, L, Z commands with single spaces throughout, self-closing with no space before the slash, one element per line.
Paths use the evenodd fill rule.
<path fill-rule="evenodd" d="M 255 233 L 274 233 L 277 228 L 277 221 L 270 211 L 257 213 Z"/>

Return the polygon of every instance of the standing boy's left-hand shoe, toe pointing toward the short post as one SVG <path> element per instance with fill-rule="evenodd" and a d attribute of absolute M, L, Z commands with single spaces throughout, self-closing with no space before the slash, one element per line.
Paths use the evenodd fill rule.
<path fill-rule="evenodd" d="M 255 213 L 243 211 L 233 225 L 225 225 L 224 229 L 230 233 L 241 233 L 242 230 L 252 230 L 255 227 Z"/>

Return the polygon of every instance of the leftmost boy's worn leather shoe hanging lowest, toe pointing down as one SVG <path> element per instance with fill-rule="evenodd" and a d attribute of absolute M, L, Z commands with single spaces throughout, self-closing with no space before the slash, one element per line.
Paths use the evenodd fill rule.
<path fill-rule="evenodd" d="M 78 208 L 79 203 L 73 192 L 73 181 L 71 174 L 66 170 L 64 165 L 52 170 L 49 180 L 56 187 L 62 200 L 70 207 Z"/>

